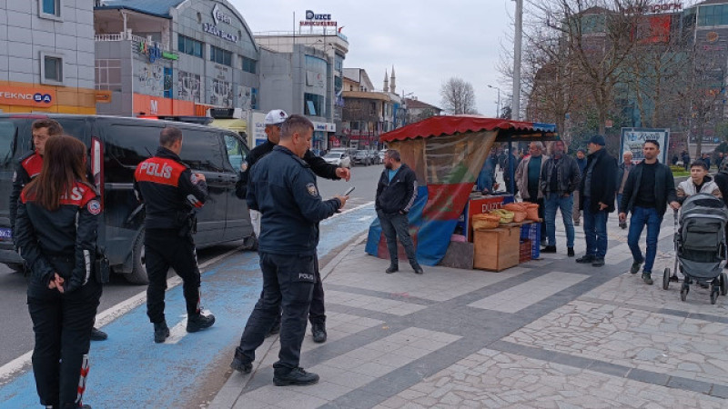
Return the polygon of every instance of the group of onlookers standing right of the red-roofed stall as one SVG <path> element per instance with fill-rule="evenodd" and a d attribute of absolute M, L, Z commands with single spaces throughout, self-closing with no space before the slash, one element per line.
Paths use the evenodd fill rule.
<path fill-rule="evenodd" d="M 728 205 L 728 161 L 723 160 L 723 153 L 703 154 L 694 161 L 687 151 L 673 155 L 672 165 L 684 165 L 690 172 L 690 177 L 676 185 L 670 166 L 658 160 L 658 141 L 642 144 L 642 160 L 635 161 L 632 152 L 626 151 L 619 164 L 605 149 L 602 135 L 592 136 L 587 149 L 578 149 L 574 155 L 568 155 L 562 141 L 547 144 L 548 153 L 541 142 L 531 142 L 528 152 L 519 150 L 511 155 L 493 147 L 476 184 L 483 194 L 505 191 L 539 205 L 542 253 L 557 252 L 559 210 L 566 230 L 567 255 L 575 256 L 574 226 L 583 218 L 587 248 L 576 262 L 602 266 L 607 253 L 607 219 L 616 210 L 620 227 L 629 228 L 631 272 L 636 274 L 642 268 L 642 280 L 652 284 L 657 237 L 668 207 L 677 211 L 688 196 L 699 193 L 720 197 Z M 512 185 L 509 160 L 513 163 Z M 712 165 L 717 171 L 714 175 L 710 175 Z M 496 182 L 496 168 L 502 172 L 505 186 Z M 645 227 L 647 245 L 642 254 L 639 240 Z"/>

